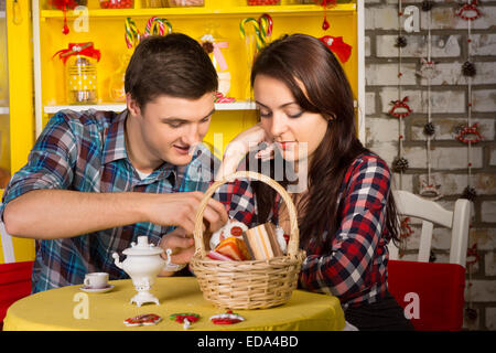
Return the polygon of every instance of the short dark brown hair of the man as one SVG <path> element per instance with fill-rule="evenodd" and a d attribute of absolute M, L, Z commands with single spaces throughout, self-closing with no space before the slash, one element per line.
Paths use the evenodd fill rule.
<path fill-rule="evenodd" d="M 151 35 L 137 46 L 126 71 L 126 93 L 141 108 L 160 95 L 197 99 L 218 87 L 208 54 L 194 39 Z"/>

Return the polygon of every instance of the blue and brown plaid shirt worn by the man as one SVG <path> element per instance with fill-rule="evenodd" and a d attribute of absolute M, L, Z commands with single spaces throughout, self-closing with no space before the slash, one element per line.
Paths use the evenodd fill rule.
<path fill-rule="evenodd" d="M 17 172 L 3 194 L 0 214 L 8 202 L 39 189 L 80 192 L 205 192 L 219 160 L 200 145 L 185 167 L 163 163 L 141 180 L 126 152 L 127 110 L 63 110 L 46 125 L 31 150 L 28 164 Z M 158 244 L 173 227 L 138 223 L 72 238 L 36 240 L 33 292 L 82 284 L 85 274 L 109 272 L 110 279 L 128 278 L 114 265 L 121 252 L 148 235 Z"/>

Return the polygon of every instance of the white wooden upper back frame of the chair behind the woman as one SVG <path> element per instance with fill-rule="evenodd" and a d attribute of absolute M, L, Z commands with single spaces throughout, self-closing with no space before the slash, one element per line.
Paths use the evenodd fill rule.
<path fill-rule="evenodd" d="M 468 240 L 471 205 L 466 199 L 459 199 L 453 211 L 448 211 L 434 201 L 422 199 L 411 192 L 392 192 L 398 214 L 422 220 L 418 261 L 428 263 L 431 253 L 434 224 L 451 228 L 450 264 L 465 267 Z M 389 258 L 399 259 L 398 248 L 389 242 Z"/>

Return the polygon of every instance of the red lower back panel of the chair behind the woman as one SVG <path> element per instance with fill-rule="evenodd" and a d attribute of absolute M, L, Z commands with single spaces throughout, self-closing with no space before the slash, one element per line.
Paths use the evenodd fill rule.
<path fill-rule="evenodd" d="M 389 260 L 389 292 L 411 313 L 418 299 L 418 331 L 460 331 L 463 324 L 465 268 L 459 264 Z"/>

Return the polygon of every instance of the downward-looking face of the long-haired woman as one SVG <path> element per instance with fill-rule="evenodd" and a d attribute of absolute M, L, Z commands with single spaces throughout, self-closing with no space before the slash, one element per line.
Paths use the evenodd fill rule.
<path fill-rule="evenodd" d="M 305 93 L 303 84 L 300 86 Z M 282 157 L 294 162 L 308 158 L 310 162 L 325 136 L 327 120 L 321 114 L 302 110 L 285 84 L 270 76 L 257 75 L 254 94 L 261 126 Z"/>

